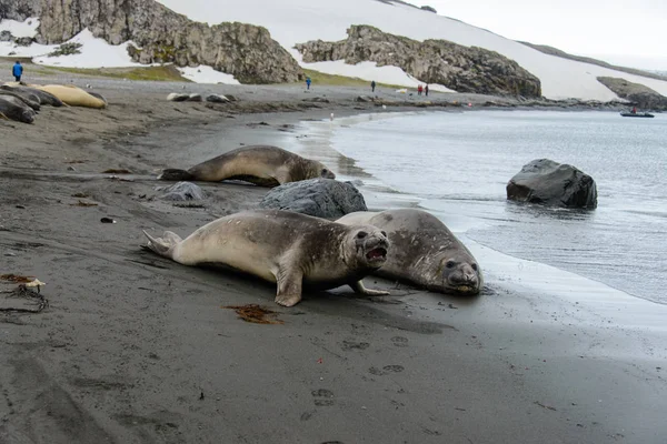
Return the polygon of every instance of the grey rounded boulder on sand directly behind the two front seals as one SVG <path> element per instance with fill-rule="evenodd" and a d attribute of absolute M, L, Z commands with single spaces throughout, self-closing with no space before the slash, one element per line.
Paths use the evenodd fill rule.
<path fill-rule="evenodd" d="M 364 195 L 355 185 L 334 179 L 310 179 L 276 186 L 259 206 L 325 219 L 338 219 L 355 211 L 368 210 Z"/>

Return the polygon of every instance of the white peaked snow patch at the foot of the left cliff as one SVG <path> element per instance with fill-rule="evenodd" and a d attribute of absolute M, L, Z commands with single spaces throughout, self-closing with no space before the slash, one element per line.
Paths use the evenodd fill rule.
<path fill-rule="evenodd" d="M 92 36 L 88 28 L 83 29 L 77 36 L 67 41 L 67 43 L 81 43 L 79 49 L 81 53 L 71 56 L 48 57 L 46 54 L 34 58 L 34 63 L 66 67 L 66 68 L 126 68 L 126 67 L 146 67 L 145 64 L 132 61 L 128 54 L 128 41 L 121 44 L 107 43 L 104 39 Z M 51 51 L 58 48 L 51 46 Z M 50 52 L 50 51 L 48 51 Z"/>

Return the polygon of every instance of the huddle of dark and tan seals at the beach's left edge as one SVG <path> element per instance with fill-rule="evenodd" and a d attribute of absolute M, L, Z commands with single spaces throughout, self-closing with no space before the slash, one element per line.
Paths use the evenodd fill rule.
<path fill-rule="evenodd" d="M 0 119 L 32 123 L 42 105 L 102 109 L 107 100 L 70 84 L 9 82 L 0 85 Z"/>

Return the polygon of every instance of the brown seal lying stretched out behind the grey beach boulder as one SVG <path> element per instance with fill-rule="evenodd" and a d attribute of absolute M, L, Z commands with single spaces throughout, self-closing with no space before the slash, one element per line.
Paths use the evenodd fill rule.
<path fill-rule="evenodd" d="M 242 180 L 259 186 L 278 186 L 307 179 L 336 179 L 322 163 L 278 147 L 251 145 L 231 150 L 189 170 L 167 169 L 158 175 L 166 181 Z"/>

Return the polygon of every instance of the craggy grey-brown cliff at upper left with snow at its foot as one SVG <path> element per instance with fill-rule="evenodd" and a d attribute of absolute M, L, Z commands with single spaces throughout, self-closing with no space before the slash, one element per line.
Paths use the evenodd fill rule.
<path fill-rule="evenodd" d="M 209 27 L 153 0 L 3 0 L 7 18 L 40 18 L 40 43 L 61 43 L 88 28 L 112 44 L 131 40 L 141 63 L 208 64 L 241 83 L 300 80 L 296 60 L 262 27 L 225 22 Z M 0 10 L 0 12 L 2 12 Z M 11 14 L 11 17 L 10 17 Z M 0 16 L 2 17 L 2 16 Z"/>

